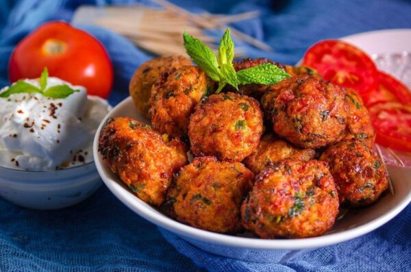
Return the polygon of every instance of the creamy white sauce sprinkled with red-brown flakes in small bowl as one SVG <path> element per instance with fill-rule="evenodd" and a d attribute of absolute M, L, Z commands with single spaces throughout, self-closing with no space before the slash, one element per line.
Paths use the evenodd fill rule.
<path fill-rule="evenodd" d="M 39 86 L 36 79 L 25 82 Z M 38 93 L 0 97 L 0 166 L 47 171 L 93 161 L 92 140 L 110 106 L 104 99 L 87 96 L 82 86 L 47 79 L 47 88 L 60 84 L 79 91 L 65 99 Z"/>

